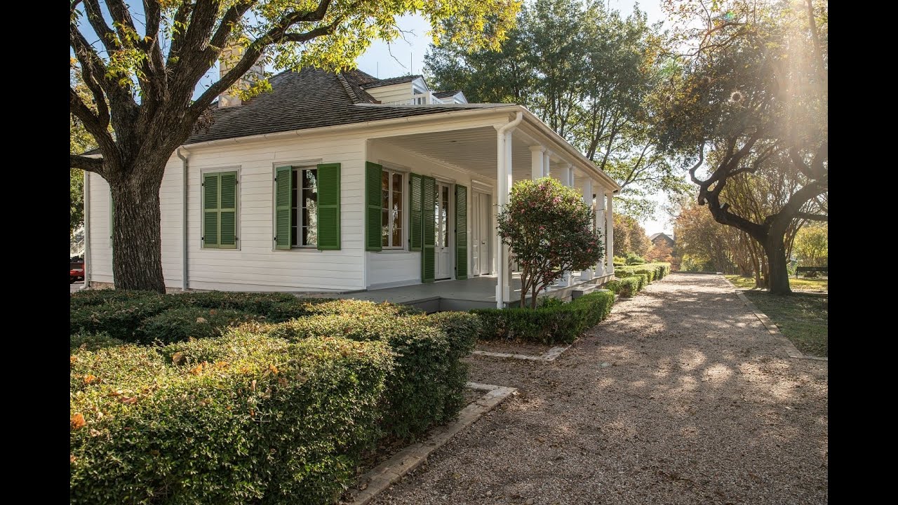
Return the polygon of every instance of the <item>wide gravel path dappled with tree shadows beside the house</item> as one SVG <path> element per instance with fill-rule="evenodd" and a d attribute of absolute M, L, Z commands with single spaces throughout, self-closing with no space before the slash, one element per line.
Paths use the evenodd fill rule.
<path fill-rule="evenodd" d="M 826 503 L 827 363 L 788 359 L 713 275 L 653 283 L 375 504 Z"/>

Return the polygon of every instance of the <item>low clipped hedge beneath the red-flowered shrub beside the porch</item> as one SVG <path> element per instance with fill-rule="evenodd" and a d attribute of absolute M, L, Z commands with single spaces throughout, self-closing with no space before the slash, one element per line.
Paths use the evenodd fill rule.
<path fill-rule="evenodd" d="M 478 309 L 484 340 L 571 343 L 611 312 L 614 294 L 594 291 L 566 304 L 533 308 Z"/>

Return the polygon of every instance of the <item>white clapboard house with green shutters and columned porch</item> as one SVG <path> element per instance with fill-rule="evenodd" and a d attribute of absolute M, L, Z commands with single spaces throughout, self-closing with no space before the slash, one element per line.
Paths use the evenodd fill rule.
<path fill-rule="evenodd" d="M 497 206 L 513 182 L 547 174 L 582 191 L 612 243 L 620 186 L 520 105 L 434 93 L 420 75 L 308 68 L 271 86 L 248 102 L 222 97 L 211 126 L 169 160 L 167 287 L 353 291 L 495 276 L 503 306 L 515 296 Z M 86 180 L 87 281 L 110 283 L 109 186 Z M 608 276 L 606 260 L 579 279 Z"/>

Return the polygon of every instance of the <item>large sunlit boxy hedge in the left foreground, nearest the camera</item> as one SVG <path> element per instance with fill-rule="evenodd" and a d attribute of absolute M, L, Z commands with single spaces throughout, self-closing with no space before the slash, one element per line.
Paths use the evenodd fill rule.
<path fill-rule="evenodd" d="M 336 501 L 391 368 L 383 342 L 332 337 L 75 350 L 70 502 Z"/>

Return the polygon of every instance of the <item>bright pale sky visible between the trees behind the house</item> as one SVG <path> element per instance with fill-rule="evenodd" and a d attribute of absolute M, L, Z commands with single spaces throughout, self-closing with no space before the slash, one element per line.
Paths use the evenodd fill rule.
<path fill-rule="evenodd" d="M 634 2 L 633 0 L 607 0 L 608 7 L 621 13 L 631 13 L 633 6 L 638 4 L 639 10 L 647 13 L 648 22 L 664 20 L 661 11 L 661 0 L 645 0 Z M 404 40 L 394 40 L 390 44 L 377 40 L 365 51 L 365 54 L 356 60 L 360 70 L 368 74 L 385 79 L 397 75 L 421 74 L 424 68 L 424 55 L 430 45 L 430 37 L 427 31 L 430 25 L 420 15 L 403 16 L 400 18 L 400 28 L 408 31 Z M 662 210 L 666 199 L 663 196 L 653 198 L 657 201 L 656 217 L 643 221 L 648 235 L 657 232 L 665 232 L 670 235 L 672 226 L 667 222 L 667 216 Z"/>

